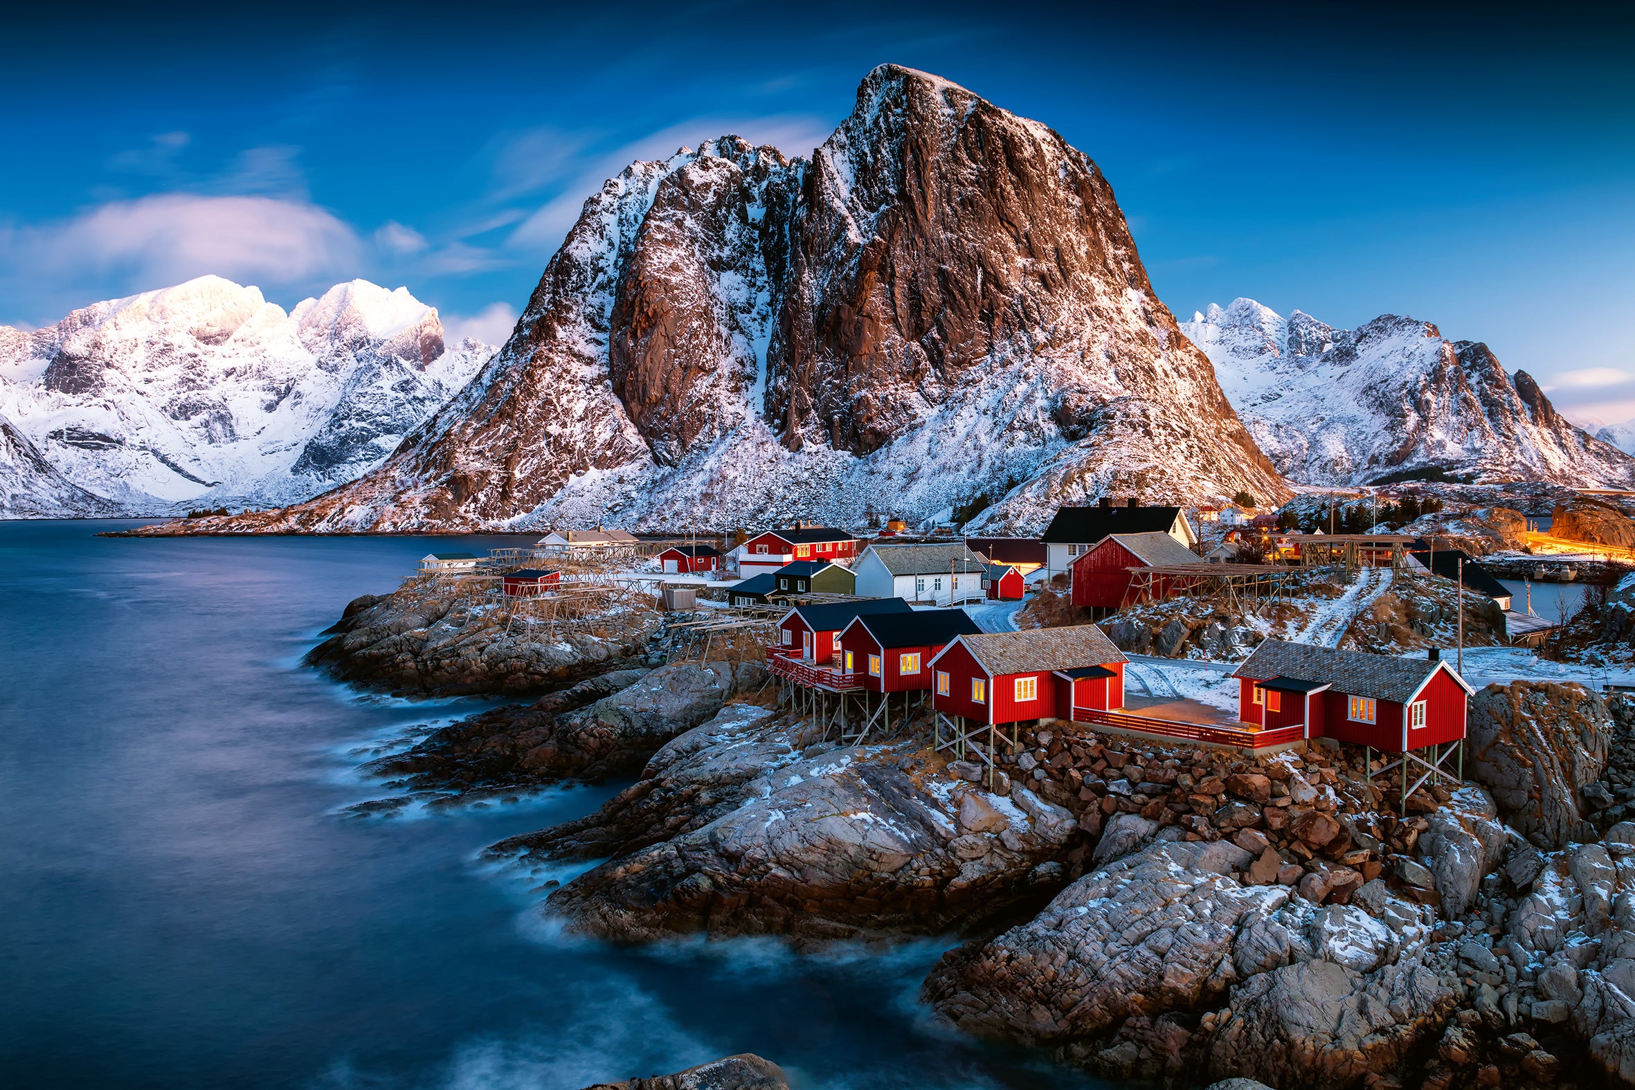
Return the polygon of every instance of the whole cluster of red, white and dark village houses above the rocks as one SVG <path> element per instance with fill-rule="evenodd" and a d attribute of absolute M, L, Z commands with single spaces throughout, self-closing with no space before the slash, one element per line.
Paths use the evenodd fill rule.
<path fill-rule="evenodd" d="M 1194 518 L 1252 526 L 1239 508 Z M 984 631 L 997 603 L 1022 603 L 1041 585 L 1061 587 L 1087 619 L 1198 587 L 1226 595 L 1275 593 L 1306 565 L 1391 565 L 1452 572 L 1467 585 L 1507 592 L 1463 554 L 1426 551 L 1403 534 L 1280 534 L 1272 562 L 1234 562 L 1207 552 L 1179 507 L 1100 500 L 1063 507 L 1038 539 L 907 539 L 891 523 L 871 539 L 798 523 L 739 534 L 726 544 L 644 543 L 618 529 L 572 529 L 541 538 L 504 565 L 500 593 L 548 595 L 571 564 L 644 565 L 659 575 L 703 577 L 724 588 L 724 608 L 767 618 L 765 647 L 785 699 L 858 742 L 921 719 L 940 748 L 994 768 L 996 745 L 1022 724 L 1069 721 L 1144 739 L 1187 739 L 1239 752 L 1275 752 L 1311 739 L 1359 745 L 1400 768 L 1404 796 L 1450 771 L 1465 737 L 1470 686 L 1436 650 L 1398 659 L 1267 639 L 1233 677 L 1236 721 L 1176 708 L 1131 708 L 1128 657 L 1094 623 Z M 558 565 L 551 567 L 556 561 Z M 474 572 L 487 561 L 435 552 L 422 570 Z M 734 579 L 736 575 L 736 579 Z M 687 600 L 693 608 L 692 598 Z M 1007 626 L 1009 628 L 1009 626 Z M 1418 784 L 1414 784 L 1418 786 Z"/>

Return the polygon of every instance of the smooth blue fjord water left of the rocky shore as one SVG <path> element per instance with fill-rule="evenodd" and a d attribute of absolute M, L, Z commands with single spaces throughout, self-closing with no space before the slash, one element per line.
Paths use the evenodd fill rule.
<path fill-rule="evenodd" d="M 804 1087 L 1063 1087 L 914 995 L 948 941 L 569 940 L 477 863 L 620 784 L 391 819 L 360 748 L 482 701 L 299 665 L 484 538 L 118 539 L 0 523 L 0 1072 L 15 1087 L 574 1088 L 755 1051 Z"/>

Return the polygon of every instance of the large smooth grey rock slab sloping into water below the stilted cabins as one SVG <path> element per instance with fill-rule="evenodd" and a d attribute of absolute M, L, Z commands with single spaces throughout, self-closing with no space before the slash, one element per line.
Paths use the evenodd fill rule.
<path fill-rule="evenodd" d="M 971 928 L 1059 889 L 1058 856 L 1077 829 L 1061 807 L 1024 788 L 953 783 L 916 744 L 819 748 L 752 788 L 732 784 L 744 801 L 692 832 L 580 874 L 546 910 L 571 931 L 626 941 L 703 931 L 821 943 Z M 670 780 L 659 789 L 682 794 L 677 775 L 659 775 Z M 695 758 L 683 775 L 716 770 Z M 692 797 L 713 804 L 708 791 Z M 685 809 L 670 820 L 697 824 Z"/>

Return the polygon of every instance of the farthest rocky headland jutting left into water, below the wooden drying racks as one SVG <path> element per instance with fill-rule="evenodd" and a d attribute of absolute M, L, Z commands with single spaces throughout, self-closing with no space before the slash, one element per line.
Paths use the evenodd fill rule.
<path fill-rule="evenodd" d="M 459 583 L 415 579 L 392 595 L 347 606 L 307 665 L 366 688 L 450 696 L 530 696 L 647 663 L 659 628 L 651 608 L 625 603 L 600 629 L 546 634 L 517 623 Z"/>

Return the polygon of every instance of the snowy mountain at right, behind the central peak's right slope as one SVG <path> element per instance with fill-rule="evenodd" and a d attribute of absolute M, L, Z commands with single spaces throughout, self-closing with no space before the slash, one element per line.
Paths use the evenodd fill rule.
<path fill-rule="evenodd" d="M 1292 480 L 1635 484 L 1635 459 L 1561 417 L 1532 376 L 1429 322 L 1385 314 L 1342 330 L 1234 299 L 1180 328 Z"/>

